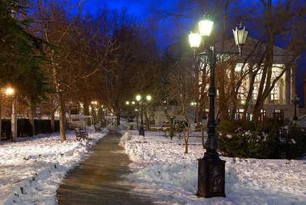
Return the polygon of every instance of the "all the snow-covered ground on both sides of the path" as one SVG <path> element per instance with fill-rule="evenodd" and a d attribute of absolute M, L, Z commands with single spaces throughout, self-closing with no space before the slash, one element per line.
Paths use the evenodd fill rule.
<path fill-rule="evenodd" d="M 0 204 L 56 204 L 56 189 L 66 172 L 86 159 L 107 131 L 87 129 L 89 141 L 75 141 L 74 131 L 61 143 L 59 133 L 0 142 Z M 124 133 L 124 131 L 122 132 Z M 120 145 L 133 160 L 126 178 L 155 204 L 306 204 L 306 160 L 259 160 L 222 157 L 227 197 L 197 198 L 197 159 L 204 154 L 201 139 L 145 133 L 122 137 Z M 199 135 L 193 133 L 193 135 Z"/>

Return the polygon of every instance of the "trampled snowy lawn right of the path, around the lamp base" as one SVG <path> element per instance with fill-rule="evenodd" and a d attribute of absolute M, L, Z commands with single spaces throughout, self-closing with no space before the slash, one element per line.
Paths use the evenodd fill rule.
<path fill-rule="evenodd" d="M 189 154 L 184 154 L 184 139 L 163 135 L 148 132 L 139 139 L 132 131 L 132 139 L 121 141 L 133 160 L 127 177 L 155 204 L 306 204 L 306 160 L 221 157 L 226 161 L 226 197 L 197 198 L 197 159 L 204 156 L 201 138 L 191 137 Z"/>

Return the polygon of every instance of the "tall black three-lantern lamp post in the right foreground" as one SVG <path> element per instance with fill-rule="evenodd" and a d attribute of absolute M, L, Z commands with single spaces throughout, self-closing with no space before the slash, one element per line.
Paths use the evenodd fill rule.
<path fill-rule="evenodd" d="M 212 29 L 213 22 L 207 18 L 200 20 L 199 23 L 199 33 L 191 33 L 189 35 L 189 40 L 191 47 L 193 49 L 199 47 L 201 42 L 201 37 L 208 37 Z M 214 119 L 214 98 L 216 96 L 216 88 L 214 87 L 215 78 L 215 67 L 217 55 L 224 55 L 228 57 L 229 55 L 240 54 L 242 51 L 242 46 L 247 40 L 248 31 L 245 30 L 242 23 L 239 25 L 239 29 L 233 29 L 234 38 L 236 45 L 238 45 L 239 53 L 234 52 L 222 52 L 216 51 L 214 46 L 208 48 L 206 46 L 206 52 L 195 54 L 196 55 L 207 55 L 210 59 L 210 87 L 208 90 L 208 96 L 210 99 L 209 105 L 209 119 L 208 119 L 208 139 L 206 140 L 206 152 L 202 159 L 198 159 L 198 190 L 197 197 L 225 197 L 225 161 L 221 160 L 217 152 L 218 143 L 215 137 L 216 135 L 216 123 Z M 195 53 L 195 52 L 194 52 Z"/>

